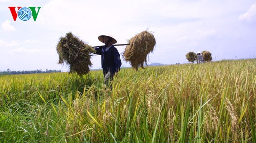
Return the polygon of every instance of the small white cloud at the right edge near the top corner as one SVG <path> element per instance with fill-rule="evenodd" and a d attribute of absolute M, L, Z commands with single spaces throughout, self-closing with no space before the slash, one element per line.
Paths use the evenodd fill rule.
<path fill-rule="evenodd" d="M 239 16 L 239 20 L 245 20 L 247 22 L 256 21 L 256 3 L 251 5 L 249 10 Z"/>

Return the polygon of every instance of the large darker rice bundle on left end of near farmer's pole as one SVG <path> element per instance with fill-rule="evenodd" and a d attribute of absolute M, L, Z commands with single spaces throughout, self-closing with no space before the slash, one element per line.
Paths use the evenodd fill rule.
<path fill-rule="evenodd" d="M 57 52 L 59 54 L 58 64 L 65 62 L 70 68 L 69 73 L 76 72 L 78 75 L 89 73 L 89 66 L 92 66 L 91 53 L 94 53 L 95 50 L 71 32 L 67 33 L 65 37 L 60 37 Z"/>

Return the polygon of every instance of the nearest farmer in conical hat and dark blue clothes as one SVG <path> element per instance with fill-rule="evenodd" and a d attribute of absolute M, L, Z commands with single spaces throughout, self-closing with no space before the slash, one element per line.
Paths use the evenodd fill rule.
<path fill-rule="evenodd" d="M 98 39 L 105 46 L 95 47 L 95 54 L 101 55 L 101 67 L 105 78 L 104 83 L 107 87 L 112 88 L 112 85 L 109 85 L 109 83 L 113 80 L 122 65 L 120 54 L 114 45 L 112 45 L 117 41 L 110 34 L 100 35 Z"/>

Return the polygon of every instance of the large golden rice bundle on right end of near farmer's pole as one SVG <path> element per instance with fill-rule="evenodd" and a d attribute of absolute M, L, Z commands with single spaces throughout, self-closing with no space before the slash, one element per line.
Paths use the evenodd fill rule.
<path fill-rule="evenodd" d="M 129 45 L 125 48 L 123 57 L 125 61 L 130 62 L 131 66 L 138 70 L 139 67 L 144 69 L 144 62 L 147 64 L 147 55 L 153 52 L 156 45 L 154 35 L 150 32 L 143 31 L 128 41 Z"/>

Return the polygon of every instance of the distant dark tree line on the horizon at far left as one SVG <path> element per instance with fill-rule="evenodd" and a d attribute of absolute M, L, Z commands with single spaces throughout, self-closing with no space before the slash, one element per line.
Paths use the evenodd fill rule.
<path fill-rule="evenodd" d="M 51 73 L 51 72 L 61 72 L 61 70 L 31 70 L 31 71 L 11 71 L 10 69 L 7 69 L 7 71 L 0 71 L 0 75 L 11 75 L 11 74 L 34 74 L 34 73 Z"/>

